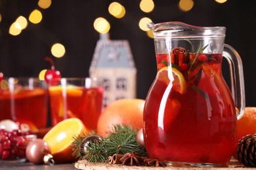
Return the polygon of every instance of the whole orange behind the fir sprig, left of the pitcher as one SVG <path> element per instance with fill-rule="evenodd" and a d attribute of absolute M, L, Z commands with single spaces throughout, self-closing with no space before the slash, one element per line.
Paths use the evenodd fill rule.
<path fill-rule="evenodd" d="M 134 129 L 142 128 L 144 99 L 118 99 L 102 110 L 98 118 L 97 133 L 107 137 L 115 125 L 130 125 Z"/>

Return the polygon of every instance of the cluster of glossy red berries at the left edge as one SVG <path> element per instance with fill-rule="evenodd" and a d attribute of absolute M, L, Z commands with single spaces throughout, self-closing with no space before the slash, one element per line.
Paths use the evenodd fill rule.
<path fill-rule="evenodd" d="M 0 129 L 0 159 L 18 160 L 26 158 L 26 146 L 31 140 L 29 135 L 32 135 L 31 131 L 22 133 L 20 129 L 14 129 L 11 132 Z"/>

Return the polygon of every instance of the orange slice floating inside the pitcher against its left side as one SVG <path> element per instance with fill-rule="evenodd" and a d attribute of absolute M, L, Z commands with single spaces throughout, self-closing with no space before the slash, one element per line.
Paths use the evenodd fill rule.
<path fill-rule="evenodd" d="M 172 80 L 173 90 L 181 94 L 186 93 L 186 80 L 182 73 L 175 68 L 170 68 L 170 71 L 172 71 L 172 75 L 168 75 L 168 67 L 161 68 L 158 71 L 158 80 L 165 84 L 169 84 L 170 80 Z"/>

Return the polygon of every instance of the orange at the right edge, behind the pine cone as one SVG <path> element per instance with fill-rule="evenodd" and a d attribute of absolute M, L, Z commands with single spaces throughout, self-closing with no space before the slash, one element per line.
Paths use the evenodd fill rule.
<path fill-rule="evenodd" d="M 244 115 L 236 124 L 236 143 L 245 135 L 256 133 L 256 107 L 245 107 Z"/>

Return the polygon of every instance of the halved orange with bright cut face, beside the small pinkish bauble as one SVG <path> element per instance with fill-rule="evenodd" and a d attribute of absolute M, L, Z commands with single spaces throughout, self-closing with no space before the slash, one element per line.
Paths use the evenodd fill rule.
<path fill-rule="evenodd" d="M 51 154 L 56 163 L 70 163 L 75 161 L 72 156 L 74 137 L 87 133 L 85 125 L 78 118 L 68 118 L 56 124 L 48 131 L 43 140 L 51 147 Z"/>

